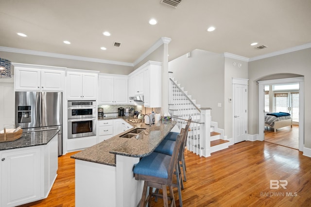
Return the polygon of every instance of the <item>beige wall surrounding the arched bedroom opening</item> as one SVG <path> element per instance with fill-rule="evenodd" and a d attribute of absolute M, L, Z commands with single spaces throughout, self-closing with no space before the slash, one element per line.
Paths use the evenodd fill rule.
<path fill-rule="evenodd" d="M 248 66 L 248 133 L 259 133 L 257 81 L 268 76 L 275 79 L 279 73 L 297 74 L 304 76 L 305 80 L 304 142 L 305 147 L 311 148 L 311 107 L 308 107 L 308 103 L 311 103 L 311 93 L 308 92 L 311 88 L 311 48 L 252 61 Z"/>

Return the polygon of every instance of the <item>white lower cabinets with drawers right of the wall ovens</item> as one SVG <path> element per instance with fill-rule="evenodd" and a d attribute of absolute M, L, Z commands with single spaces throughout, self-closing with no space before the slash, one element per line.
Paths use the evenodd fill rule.
<path fill-rule="evenodd" d="M 122 119 L 99 120 L 98 143 L 134 128 Z"/>

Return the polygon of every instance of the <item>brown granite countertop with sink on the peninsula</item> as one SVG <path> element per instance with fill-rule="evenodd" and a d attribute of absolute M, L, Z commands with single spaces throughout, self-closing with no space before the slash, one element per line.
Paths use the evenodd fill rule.
<path fill-rule="evenodd" d="M 144 157 L 150 155 L 176 124 L 176 121 L 159 121 L 152 126 L 145 123 L 133 124 L 135 128 L 146 128 L 132 138 L 120 138 L 133 130 L 129 129 L 117 136 L 71 155 L 71 158 L 104 165 L 116 166 L 116 156 Z"/>

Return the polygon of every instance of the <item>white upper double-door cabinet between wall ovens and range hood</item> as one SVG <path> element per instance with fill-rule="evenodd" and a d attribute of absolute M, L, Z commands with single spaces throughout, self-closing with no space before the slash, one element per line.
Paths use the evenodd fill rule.
<path fill-rule="evenodd" d="M 99 76 L 99 104 L 127 104 L 128 78 L 123 75 Z"/>

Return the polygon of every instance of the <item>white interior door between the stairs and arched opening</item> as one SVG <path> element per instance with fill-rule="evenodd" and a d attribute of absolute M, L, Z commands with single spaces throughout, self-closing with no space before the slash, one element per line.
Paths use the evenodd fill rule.
<path fill-rule="evenodd" d="M 247 136 L 247 85 L 234 84 L 234 143 L 246 140 Z"/>

